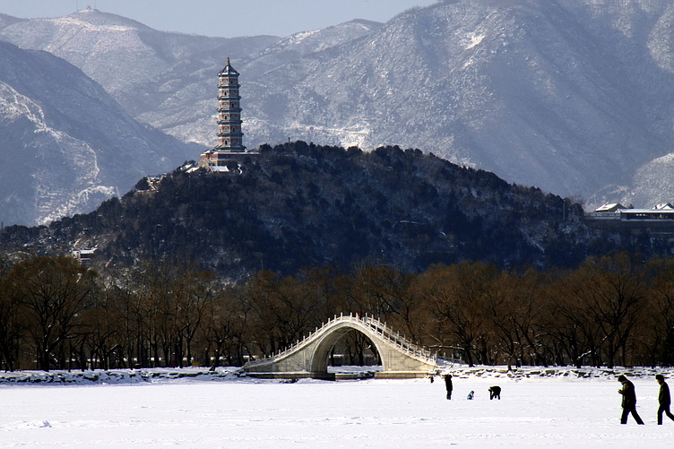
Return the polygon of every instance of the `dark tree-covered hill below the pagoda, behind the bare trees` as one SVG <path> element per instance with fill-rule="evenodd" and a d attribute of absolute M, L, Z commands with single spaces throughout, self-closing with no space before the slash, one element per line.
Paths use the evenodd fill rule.
<path fill-rule="evenodd" d="M 568 199 L 419 150 L 289 142 L 260 152 L 236 174 L 178 168 L 156 190 L 143 179 L 95 212 L 6 228 L 4 255 L 96 247 L 91 266 L 99 270 L 171 258 L 239 279 L 364 264 L 420 272 L 463 260 L 546 268 L 615 249 L 667 251 L 645 234 L 588 229 Z"/>

